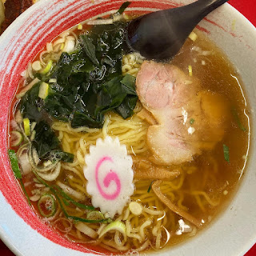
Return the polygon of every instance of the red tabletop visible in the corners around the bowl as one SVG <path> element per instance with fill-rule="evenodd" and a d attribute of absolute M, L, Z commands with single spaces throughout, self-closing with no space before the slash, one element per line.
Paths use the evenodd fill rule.
<path fill-rule="evenodd" d="M 256 26 L 256 2 L 255 0 L 230 0 L 230 5 L 239 10 L 248 20 Z M 0 240 L 0 255 L 14 256 L 14 254 Z M 245 256 L 256 255 L 256 244 L 248 251 Z M 218 256 L 218 255 L 217 255 Z"/>

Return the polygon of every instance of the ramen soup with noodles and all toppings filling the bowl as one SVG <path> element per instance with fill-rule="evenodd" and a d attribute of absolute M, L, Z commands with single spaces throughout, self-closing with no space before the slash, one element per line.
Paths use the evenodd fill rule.
<path fill-rule="evenodd" d="M 194 30 L 173 60 L 148 61 L 126 47 L 127 18 L 47 43 L 10 116 L 12 167 L 38 217 L 116 253 L 160 250 L 212 222 L 250 128 L 238 72 L 212 42 Z"/>

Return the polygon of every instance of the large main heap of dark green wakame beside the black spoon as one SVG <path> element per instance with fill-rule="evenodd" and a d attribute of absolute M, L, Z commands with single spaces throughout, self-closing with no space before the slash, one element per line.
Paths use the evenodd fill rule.
<path fill-rule="evenodd" d="M 126 23 L 93 26 L 81 34 L 72 53 L 62 53 L 54 69 L 37 76 L 50 83 L 50 93 L 42 109 L 51 117 L 70 122 L 76 128 L 101 128 L 104 114 L 115 110 L 122 118 L 133 114 L 137 102 L 135 78 L 122 75 L 122 55 L 126 50 Z"/>

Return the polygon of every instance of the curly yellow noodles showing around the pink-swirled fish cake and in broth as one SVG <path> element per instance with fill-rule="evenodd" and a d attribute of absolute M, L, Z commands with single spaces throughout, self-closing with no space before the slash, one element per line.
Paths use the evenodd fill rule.
<path fill-rule="evenodd" d="M 142 64 L 142 58 L 136 54 L 127 54 L 124 56 L 122 63 L 124 74 L 136 74 Z M 84 178 L 83 174 L 84 159 L 85 155 L 90 152 L 90 146 L 95 145 L 98 138 L 106 138 L 107 135 L 118 137 L 120 142 L 126 145 L 128 153 L 134 155 L 134 162 L 141 161 L 144 158 L 147 159 L 147 154 L 150 152 L 146 145 L 146 133 L 149 124 L 138 118 L 136 113 L 140 110 L 142 110 L 142 105 L 138 102 L 134 109 L 135 114 L 126 120 L 118 114 L 106 114 L 102 129 L 90 129 L 87 127 L 73 129 L 68 122 L 54 122 L 53 129 L 62 142 L 63 150 L 75 156 L 73 163 L 62 163 L 62 172 L 66 175 L 72 189 L 86 194 L 86 178 Z M 186 166 L 182 166 L 181 174 L 178 178 L 162 182 L 162 193 L 166 194 L 180 209 L 188 210 L 185 205 L 188 194 L 190 194 L 189 198 L 195 205 L 198 204 L 199 209 L 202 211 L 206 205 L 218 205 L 217 201 L 214 201 L 206 194 L 206 182 L 209 180 L 216 182 L 214 173 L 218 171 L 218 165 L 214 158 L 209 156 L 208 159 L 208 166 L 205 166 L 203 170 L 199 169 L 198 166 L 186 164 Z M 202 171 L 201 178 L 196 182 L 190 182 L 188 177 L 199 171 Z M 192 180 L 194 181 L 194 179 Z M 150 180 L 134 182 L 136 189 L 134 190 L 134 195 L 131 196 L 131 200 L 142 204 L 142 214 L 136 216 L 126 206 L 122 214 L 115 218 L 126 225 L 127 240 L 125 241 L 122 238 L 122 234 L 115 231 L 95 240 L 95 244 L 114 252 L 130 249 L 141 250 L 149 246 L 150 240 L 147 239 L 150 238 L 154 239 L 153 246 L 155 249 L 160 249 L 164 245 L 165 241 L 162 241 L 162 239 L 166 237 L 166 234 L 163 232 L 166 229 L 174 233 L 177 230 L 177 222 L 180 217 L 160 202 L 152 190 L 149 193 L 147 192 L 150 183 Z M 186 190 L 189 188 L 190 191 L 184 191 L 185 183 Z M 70 215 L 86 218 L 85 211 L 79 211 L 71 206 L 65 206 L 65 209 Z M 86 225 L 95 230 L 97 234 L 100 234 L 107 224 L 88 223 Z M 194 232 L 197 232 L 196 228 Z M 89 242 L 88 238 L 78 230 L 72 230 L 70 235 L 79 241 Z"/>

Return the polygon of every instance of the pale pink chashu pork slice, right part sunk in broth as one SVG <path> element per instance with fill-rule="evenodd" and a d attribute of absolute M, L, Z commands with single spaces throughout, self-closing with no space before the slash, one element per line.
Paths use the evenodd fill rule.
<path fill-rule="evenodd" d="M 225 98 L 202 90 L 197 78 L 177 66 L 143 62 L 136 90 L 142 106 L 157 121 L 147 131 L 154 162 L 188 162 L 222 140 L 230 115 Z"/>

